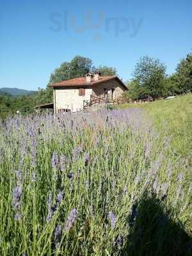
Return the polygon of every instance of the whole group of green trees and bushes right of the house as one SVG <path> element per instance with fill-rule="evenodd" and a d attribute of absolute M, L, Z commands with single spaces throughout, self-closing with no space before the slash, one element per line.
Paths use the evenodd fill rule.
<path fill-rule="evenodd" d="M 136 63 L 133 79 L 129 83 L 128 97 L 167 97 L 192 91 L 192 54 L 181 60 L 176 72 L 166 75 L 166 66 L 158 59 L 144 56 Z"/>

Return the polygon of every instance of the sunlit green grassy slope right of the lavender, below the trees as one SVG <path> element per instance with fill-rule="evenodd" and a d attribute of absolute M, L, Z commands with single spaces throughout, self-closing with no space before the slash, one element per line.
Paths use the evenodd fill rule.
<path fill-rule="evenodd" d="M 172 136 L 172 148 L 182 156 L 192 150 L 192 94 L 146 104 L 124 104 L 118 108 L 143 108 L 154 119 L 158 131 Z M 190 156 L 189 156 L 190 157 Z"/>

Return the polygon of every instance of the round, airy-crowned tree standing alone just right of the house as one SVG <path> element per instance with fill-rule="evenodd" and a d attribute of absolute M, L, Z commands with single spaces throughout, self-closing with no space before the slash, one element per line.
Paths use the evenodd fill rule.
<path fill-rule="evenodd" d="M 144 56 L 136 63 L 133 76 L 143 92 L 148 92 L 152 97 L 163 96 L 166 66 L 159 59 Z"/>

